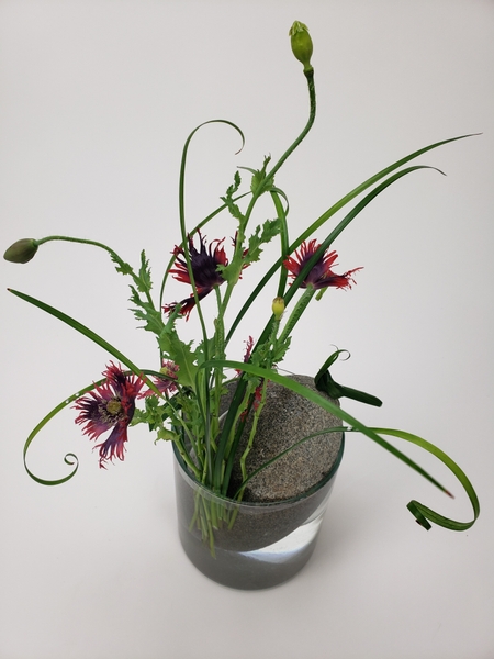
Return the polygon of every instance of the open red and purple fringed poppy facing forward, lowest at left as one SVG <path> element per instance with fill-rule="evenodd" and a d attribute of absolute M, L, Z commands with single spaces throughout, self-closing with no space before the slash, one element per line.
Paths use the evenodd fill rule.
<path fill-rule="evenodd" d="M 86 424 L 83 433 L 90 439 L 98 439 L 102 433 L 113 428 L 102 444 L 94 446 L 100 449 L 100 467 L 105 469 L 108 460 L 112 461 L 114 457 L 124 459 L 127 427 L 134 416 L 135 399 L 144 382 L 137 376 L 126 376 L 112 361 L 103 376 L 105 382 L 78 399 L 74 406 L 80 410 L 76 423 Z"/>

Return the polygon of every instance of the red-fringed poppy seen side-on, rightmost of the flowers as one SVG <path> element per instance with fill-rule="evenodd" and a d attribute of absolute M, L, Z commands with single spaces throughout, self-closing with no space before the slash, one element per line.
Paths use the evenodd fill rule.
<path fill-rule="evenodd" d="M 304 241 L 300 246 L 300 249 L 295 252 L 295 255 L 288 257 L 283 261 L 283 266 L 287 268 L 293 279 L 301 273 L 302 268 L 314 256 L 319 247 L 321 245 L 315 239 L 310 241 L 308 243 Z M 353 268 L 353 270 L 347 270 L 347 272 L 344 272 L 343 275 L 336 275 L 333 272 L 332 266 L 335 264 L 338 255 L 336 252 L 329 252 L 329 254 L 327 254 L 326 250 L 310 270 L 303 283 L 301 284 L 301 288 L 312 287 L 315 289 L 322 289 L 329 286 L 343 289 L 351 288 L 351 284 L 355 283 L 355 279 L 351 277 L 351 275 L 357 272 L 357 270 L 361 270 L 362 268 Z"/>

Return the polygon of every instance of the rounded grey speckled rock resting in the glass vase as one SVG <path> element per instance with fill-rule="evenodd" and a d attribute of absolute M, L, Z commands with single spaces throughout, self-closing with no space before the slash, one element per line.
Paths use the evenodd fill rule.
<path fill-rule="evenodd" d="M 317 391 L 313 378 L 291 377 L 296 382 Z M 225 396 L 224 410 L 227 409 L 231 400 L 231 394 Z M 328 398 L 328 400 L 330 399 Z M 337 401 L 333 402 L 338 404 Z M 247 445 L 251 424 L 250 415 L 240 439 L 237 451 L 238 459 L 233 470 L 232 487 L 234 490 L 242 482 L 239 457 Z M 340 425 L 341 422 L 338 417 L 315 403 L 280 384 L 269 382 L 266 405 L 259 417 L 254 446 L 246 461 L 247 473 L 251 473 L 267 460 L 293 446 L 303 437 Z M 303 494 L 328 473 L 336 461 L 340 445 L 340 432 L 327 433 L 304 442 L 254 477 L 245 489 L 244 501 L 272 502 Z"/>

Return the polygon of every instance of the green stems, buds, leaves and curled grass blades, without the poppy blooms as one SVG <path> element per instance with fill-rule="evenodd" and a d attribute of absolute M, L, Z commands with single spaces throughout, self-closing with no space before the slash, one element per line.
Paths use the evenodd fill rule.
<path fill-rule="evenodd" d="M 227 493 L 233 461 L 236 457 L 236 450 L 245 427 L 246 416 L 252 411 L 254 431 L 249 437 L 250 445 L 251 442 L 255 440 L 255 424 L 259 418 L 262 405 L 266 401 L 265 394 L 267 382 L 272 380 L 304 396 L 307 401 L 321 405 L 323 409 L 341 420 L 341 427 L 345 429 L 345 432 L 360 432 L 364 434 L 371 440 L 379 444 L 382 448 L 390 451 L 397 459 L 402 460 L 417 473 L 426 478 L 429 482 L 440 488 L 444 492 L 449 493 L 428 472 L 426 472 L 415 461 L 409 459 L 401 450 L 384 439 L 382 435 L 392 435 L 395 438 L 409 442 L 436 456 L 457 476 L 460 483 L 464 488 L 474 510 L 473 521 L 456 522 L 449 520 L 442 515 L 439 515 L 438 513 L 435 513 L 430 509 L 416 501 L 412 501 L 408 504 L 408 510 L 426 528 L 430 527 L 430 523 L 436 523 L 447 528 L 464 530 L 465 528 L 469 528 L 475 521 L 480 512 L 480 506 L 476 494 L 470 481 L 460 470 L 458 465 L 456 465 L 456 462 L 446 456 L 446 454 L 425 439 L 422 439 L 409 433 L 391 431 L 388 428 L 370 428 L 366 426 L 360 421 L 350 416 L 339 405 L 328 401 L 326 396 L 323 396 L 311 389 L 302 387 L 290 378 L 281 376 L 277 371 L 277 366 L 283 360 L 288 349 L 290 348 L 291 337 L 300 317 L 303 313 L 305 313 L 305 310 L 310 306 L 314 297 L 316 297 L 316 299 L 321 299 L 322 297 L 322 292 L 315 295 L 316 291 L 310 282 L 306 282 L 306 278 L 311 269 L 324 256 L 335 239 L 355 219 L 360 215 L 360 213 L 373 199 L 386 190 L 391 185 L 413 171 L 433 169 L 422 165 L 406 166 L 411 160 L 442 144 L 454 142 L 467 136 L 464 135 L 461 137 L 454 137 L 452 139 L 446 139 L 426 146 L 382 169 L 333 204 L 325 213 L 323 213 L 323 215 L 314 220 L 312 224 L 310 224 L 310 226 L 295 238 L 295 241 L 290 243 L 289 227 L 287 222 L 289 202 L 287 194 L 282 190 L 274 187 L 274 176 L 284 165 L 285 160 L 293 154 L 296 147 L 305 138 L 314 123 L 316 110 L 313 69 L 310 64 L 310 58 L 312 55 L 312 41 L 308 36 L 306 26 L 302 23 L 295 22 L 291 31 L 291 41 L 295 57 L 297 57 L 304 64 L 304 71 L 307 81 L 310 112 L 305 127 L 273 165 L 271 165 L 271 157 L 267 156 L 265 157 L 262 167 L 260 169 L 249 167 L 242 168 L 251 175 L 250 187 L 247 192 L 240 193 L 242 178 L 239 172 L 236 171 L 233 177 L 233 183 L 227 188 L 224 197 L 221 198 L 223 205 L 214 210 L 201 222 L 199 222 L 197 226 L 189 231 L 186 223 L 184 211 L 184 172 L 188 148 L 192 137 L 197 131 L 203 126 L 211 123 L 218 123 L 233 127 L 237 134 L 240 135 L 242 145 L 244 145 L 244 135 L 240 129 L 238 129 L 238 126 L 232 122 L 225 120 L 213 120 L 211 122 L 205 122 L 192 131 L 186 141 L 180 167 L 179 217 L 181 243 L 179 249 L 173 253 L 173 257 L 170 260 L 167 272 L 162 277 L 162 286 L 157 304 L 153 299 L 151 271 L 144 250 L 141 252 L 141 264 L 137 272 L 134 271 L 134 269 L 110 247 L 94 241 L 68 236 L 48 236 L 40 241 L 23 239 L 15 243 L 5 253 L 5 258 L 9 260 L 13 260 L 14 263 L 26 263 L 34 256 L 34 254 L 44 243 L 55 239 L 76 242 L 104 249 L 110 255 L 111 260 L 115 264 L 116 271 L 128 276 L 132 280 L 132 283 L 130 284 L 130 301 L 133 304 L 132 312 L 135 319 L 142 323 L 142 328 L 155 334 L 157 338 L 159 347 L 159 366 L 157 371 L 138 368 L 110 342 L 106 342 L 86 325 L 68 316 L 61 311 L 40 300 L 31 298 L 25 293 L 21 293 L 19 291 L 11 292 L 71 326 L 77 332 L 94 342 L 115 359 L 121 361 L 130 369 L 130 371 L 143 378 L 146 386 L 154 391 L 155 395 L 146 395 L 144 401 L 136 401 L 138 405 L 134 413 L 132 425 L 145 423 L 148 425 L 149 431 L 155 434 L 157 440 L 175 442 L 181 457 L 186 461 L 194 478 L 200 480 L 212 491 L 221 492 L 223 494 Z M 269 167 L 270 169 L 268 169 Z M 256 204 L 258 199 L 265 192 L 270 193 L 268 197 L 273 203 L 276 219 L 266 220 L 258 224 L 254 231 L 251 231 L 251 228 L 249 228 L 249 223 L 250 226 L 255 224 L 252 217 L 256 210 Z M 361 197 L 359 201 L 356 201 L 356 205 L 346 213 L 339 223 L 336 224 L 336 226 L 329 232 L 325 231 L 325 224 L 338 211 L 347 206 L 359 196 L 363 197 Z M 242 198 L 244 198 L 244 201 L 246 202 L 245 209 L 240 209 L 240 205 L 238 204 L 238 201 Z M 226 235 L 229 233 L 229 236 L 234 238 L 233 256 L 231 257 L 228 265 L 224 266 L 223 264 L 215 264 L 214 260 L 211 263 L 211 259 L 213 258 L 211 253 L 206 255 L 201 254 L 201 258 L 199 259 L 200 263 L 193 264 L 193 255 L 191 255 L 191 253 L 188 250 L 188 236 L 193 236 L 198 231 L 206 225 L 210 220 L 224 210 L 229 213 L 234 221 L 233 224 L 235 225 L 234 230 L 228 228 L 228 231 L 225 232 Z M 231 224 L 232 221 L 229 222 L 228 226 L 231 226 Z M 300 272 L 297 273 L 296 278 L 291 286 L 287 288 L 287 271 L 283 268 L 283 260 L 287 258 L 287 256 L 293 254 L 304 241 L 313 237 L 314 233 L 318 231 L 325 231 L 327 234 L 324 239 L 322 239 L 321 247 L 315 254 L 312 255 L 311 258 L 306 259 L 301 265 Z M 254 264 L 259 261 L 263 246 L 277 237 L 279 237 L 280 242 L 279 257 L 268 269 L 266 275 L 260 278 L 260 281 L 254 286 L 252 292 L 247 297 L 247 300 L 240 306 L 240 310 L 234 314 L 232 319 L 231 302 L 238 294 L 235 287 L 240 278 L 240 275 L 247 266 L 254 266 Z M 182 340 L 177 331 L 178 319 L 182 317 L 180 305 L 177 305 L 168 315 L 168 317 L 164 316 L 161 309 L 161 297 L 165 283 L 167 281 L 167 276 L 169 270 L 172 269 L 178 252 L 184 256 L 184 259 L 179 261 L 182 268 L 181 280 L 190 280 L 193 287 L 193 300 L 189 300 L 189 302 L 191 305 L 194 303 L 194 309 L 190 313 L 190 316 L 191 319 L 199 319 L 201 326 L 202 336 L 199 337 L 200 340 L 197 342 L 195 347 L 194 342 Z M 183 263 L 187 264 L 187 268 Z M 194 268 L 197 269 L 195 272 Z M 198 268 L 200 271 L 198 271 Z M 221 273 L 223 281 L 221 281 L 221 279 L 218 281 L 216 272 L 211 271 L 212 268 L 215 268 L 216 272 Z M 254 271 L 255 268 L 249 267 L 245 273 L 246 279 L 247 277 L 254 277 Z M 226 354 L 232 336 L 248 313 L 256 313 L 256 316 L 261 313 L 261 310 L 259 310 L 258 298 L 263 289 L 270 284 L 271 278 L 277 273 L 279 275 L 279 281 L 277 287 L 272 288 L 272 297 L 280 298 L 281 310 L 276 315 L 270 315 L 269 309 L 267 310 L 265 327 L 261 331 L 256 345 L 250 346 L 251 353 L 246 362 L 227 359 Z M 213 282 L 211 287 L 207 286 L 209 280 Z M 198 290 L 197 281 L 201 282 L 201 290 Z M 304 289 L 302 295 L 299 295 L 300 288 Z M 211 294 L 211 297 L 206 299 L 206 295 L 209 293 L 213 293 L 213 290 L 214 294 Z M 201 294 L 199 294 L 199 292 Z M 297 298 L 295 298 L 295 295 L 297 295 Z M 207 320 L 210 316 L 207 316 L 207 314 L 203 314 L 202 304 L 213 304 L 214 298 L 216 301 L 216 309 L 214 320 L 211 323 L 211 321 Z M 167 306 L 167 309 L 170 306 Z M 283 309 L 287 309 L 288 312 L 283 312 Z M 189 311 L 190 309 L 188 309 L 188 312 Z M 287 317 L 281 317 L 282 314 L 284 315 L 284 313 L 287 313 Z M 229 326 L 226 330 L 225 326 L 228 323 Z M 327 393 L 334 399 L 347 396 L 371 405 L 381 405 L 381 401 L 375 396 L 341 386 L 333 379 L 329 372 L 329 367 L 334 365 L 341 353 L 343 350 L 336 350 L 325 361 L 315 378 L 317 389 Z M 155 380 L 156 378 L 158 378 L 158 380 Z M 155 383 L 158 382 L 159 384 L 162 384 L 164 378 L 168 378 L 170 380 L 170 389 L 165 393 L 160 392 Z M 222 398 L 227 392 L 225 386 L 226 381 L 235 383 L 236 388 L 227 411 L 225 414 L 221 415 L 221 410 L 223 410 L 222 404 L 224 402 L 222 401 Z M 25 443 L 24 463 L 27 448 L 35 436 L 48 423 L 48 421 L 50 421 L 68 404 L 74 403 L 74 401 L 79 396 L 91 391 L 94 386 L 96 384 L 88 386 L 76 394 L 72 394 L 57 407 L 55 407 L 47 416 L 45 416 L 44 420 L 42 420 L 42 422 L 30 434 Z M 302 444 L 307 438 L 308 437 L 301 438 L 296 445 Z M 283 455 L 287 451 L 283 451 Z M 280 457 L 281 455 L 276 456 L 273 459 L 262 466 L 261 469 L 276 462 L 276 460 Z M 72 454 L 67 454 L 65 457 L 65 462 L 71 467 L 70 473 L 55 481 L 40 479 L 29 470 L 27 466 L 26 470 L 30 476 L 40 483 L 59 484 L 72 478 L 78 469 L 77 458 Z M 242 465 L 244 469 L 245 463 Z M 242 498 L 245 483 L 254 474 L 247 474 L 246 472 L 244 473 L 245 480 L 238 490 L 238 498 Z M 204 532 L 204 537 L 207 539 L 211 546 L 212 525 L 210 520 L 207 521 L 207 524 L 210 526 L 207 526 L 207 528 L 202 528 L 202 530 Z"/>

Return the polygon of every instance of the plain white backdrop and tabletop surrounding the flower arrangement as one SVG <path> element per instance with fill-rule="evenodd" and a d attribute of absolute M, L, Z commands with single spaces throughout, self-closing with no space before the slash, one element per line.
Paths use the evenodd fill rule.
<path fill-rule="evenodd" d="M 293 581 L 236 592 L 202 577 L 176 533 L 171 446 L 133 429 L 125 461 L 98 469 L 66 410 L 23 443 L 67 395 L 100 376 L 105 355 L 5 291 L 55 304 L 156 368 L 135 330 L 128 289 L 96 248 L 49 243 L 26 266 L 0 264 L 1 659 L 490 659 L 494 656 L 493 165 L 494 3 L 487 0 L 262 2 L 234 0 L 0 3 L 2 252 L 63 234 L 110 244 L 134 265 L 145 247 L 156 286 L 179 239 L 177 188 L 190 150 L 190 225 L 218 205 L 235 168 L 277 159 L 306 119 L 291 55 L 293 20 L 315 43 L 318 116 L 277 177 L 292 236 L 359 182 L 413 150 L 481 136 L 419 158 L 422 170 L 379 197 L 337 241 L 351 292 L 311 309 L 287 368 L 314 375 L 332 345 L 335 378 L 382 398 L 344 405 L 361 421 L 415 432 L 465 470 L 478 524 L 426 533 L 411 499 L 460 520 L 456 479 L 407 449 L 457 494 L 448 501 L 358 435 L 347 450 L 313 559 Z M 247 179 L 246 179 L 247 180 Z M 269 204 L 257 221 L 273 216 Z M 339 217 L 339 216 L 338 216 Z M 334 224 L 328 225 L 328 231 Z M 232 236 L 223 216 L 210 239 Z M 316 237 L 322 239 L 323 233 Z M 229 238 L 226 244 L 228 244 Z M 249 268 L 243 291 L 260 272 Z M 167 301 L 186 297 L 172 282 Z M 258 335 L 269 290 L 232 344 Z M 186 336 L 197 336 L 191 320 Z"/>

